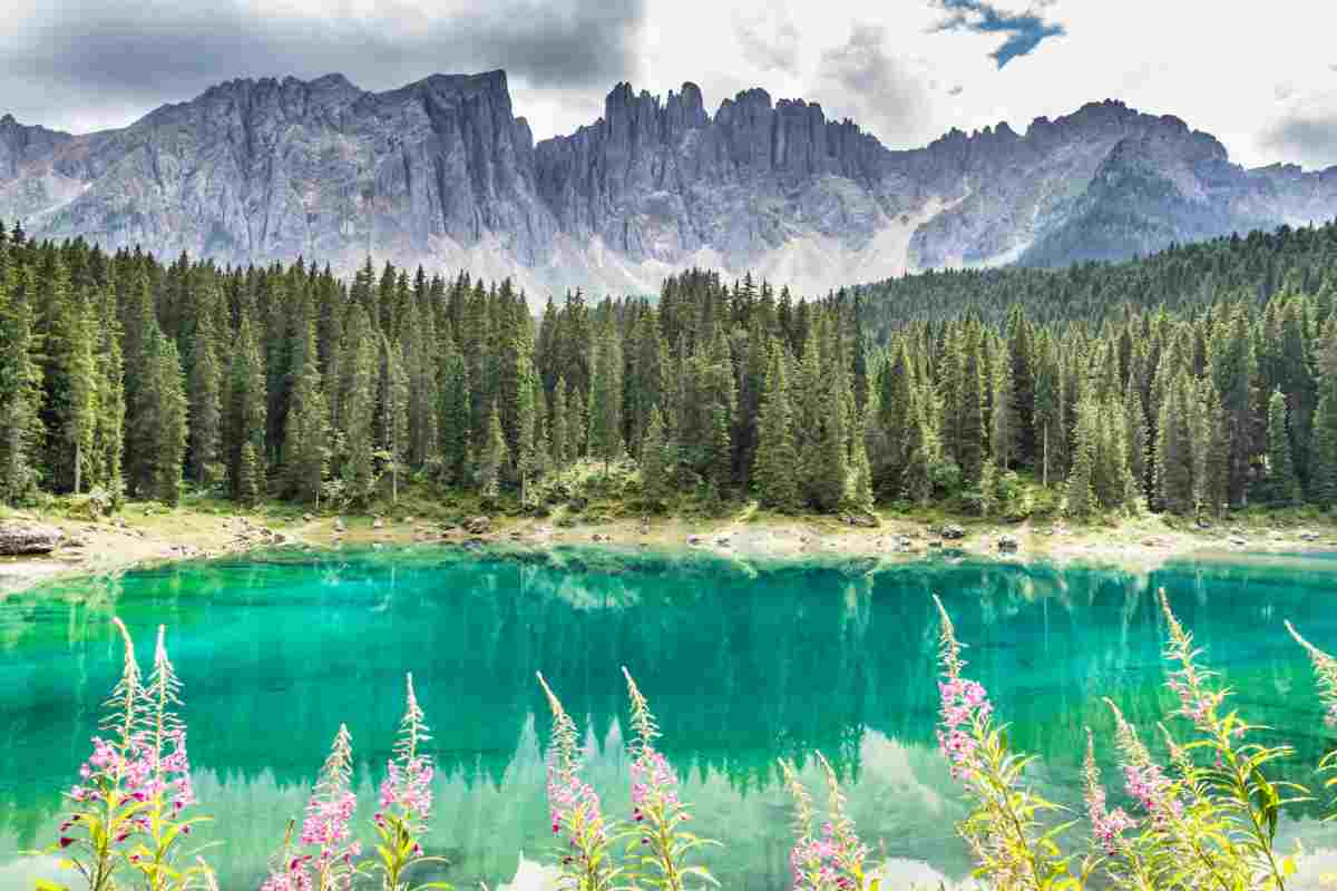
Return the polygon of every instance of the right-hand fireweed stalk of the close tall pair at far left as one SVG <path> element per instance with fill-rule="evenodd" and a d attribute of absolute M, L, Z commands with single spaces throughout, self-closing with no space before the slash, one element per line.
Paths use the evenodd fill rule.
<path fill-rule="evenodd" d="M 154 669 L 143 688 L 142 729 L 135 744 L 148 763 L 148 779 L 142 791 L 147 796 L 147 826 L 127 855 L 146 891 L 207 887 L 207 867 L 195 851 L 182 851 L 197 823 L 207 818 L 182 819 L 195 803 L 190 783 L 190 757 L 186 752 L 186 725 L 176 715 L 180 707 L 180 680 L 167 657 L 166 627 L 158 627 Z M 195 863 L 189 863 L 190 860 Z M 182 866 L 183 863 L 189 863 Z"/>

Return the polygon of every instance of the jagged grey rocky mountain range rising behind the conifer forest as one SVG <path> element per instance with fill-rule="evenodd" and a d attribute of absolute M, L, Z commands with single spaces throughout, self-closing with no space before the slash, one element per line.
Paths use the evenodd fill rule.
<path fill-rule="evenodd" d="M 298 255 L 511 275 L 531 295 L 654 293 L 690 266 L 825 293 L 908 270 L 1120 259 L 1337 216 L 1337 167 L 1245 170 L 1173 116 L 1092 103 L 890 151 L 763 90 L 711 115 L 691 83 L 619 84 L 535 143 L 504 72 L 368 92 L 234 80 L 123 130 L 0 118 L 0 219 L 225 263 Z"/>

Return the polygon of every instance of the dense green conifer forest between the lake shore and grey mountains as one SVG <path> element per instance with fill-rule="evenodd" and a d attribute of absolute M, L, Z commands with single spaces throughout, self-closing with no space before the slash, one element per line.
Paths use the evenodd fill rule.
<path fill-rule="evenodd" d="M 1019 472 L 1079 516 L 1329 508 L 1333 258 L 1337 228 L 1284 230 L 817 301 L 697 270 L 656 299 L 575 293 L 535 317 L 509 282 L 468 274 L 164 266 L 15 227 L 0 232 L 0 497 L 175 502 L 190 485 L 345 506 L 412 480 L 533 505 L 555 472 L 630 457 L 650 508 L 695 492 L 1008 514 Z M 1182 298 L 1203 263 L 1222 290 Z M 1169 269 L 1178 309 L 1148 285 Z M 957 315 L 897 297 L 945 281 L 973 294 Z M 1098 317 L 1055 315 L 1043 295 L 1074 282 L 1100 295 Z"/>

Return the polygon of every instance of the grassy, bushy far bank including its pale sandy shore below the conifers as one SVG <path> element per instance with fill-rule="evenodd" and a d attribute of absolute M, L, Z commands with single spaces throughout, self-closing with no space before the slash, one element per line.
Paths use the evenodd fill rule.
<path fill-rule="evenodd" d="M 508 541 L 527 546 L 611 545 L 698 548 L 739 557 L 913 558 L 939 546 L 1017 558 L 1152 568 L 1189 553 L 1296 552 L 1337 548 L 1337 524 L 1313 509 L 1247 510 L 1199 525 L 1171 514 L 1107 516 L 1078 524 L 1059 516 L 1054 492 L 1028 484 L 1009 517 L 980 517 L 963 504 L 880 506 L 872 514 L 782 514 L 755 501 L 713 501 L 691 492 L 667 504 L 640 498 L 630 465 L 582 464 L 524 501 L 517 493 L 481 498 L 425 484 L 401 488 L 358 509 L 291 502 L 243 508 L 209 493 L 187 493 L 178 506 L 131 502 L 115 512 L 87 498 L 49 498 L 11 520 L 59 528 L 66 538 L 49 557 L 0 560 L 0 589 L 57 573 L 114 572 L 132 565 L 217 557 L 279 545 L 341 546 L 409 542 Z M 477 518 L 485 518 L 480 525 Z M 960 526 L 960 540 L 945 540 Z"/>

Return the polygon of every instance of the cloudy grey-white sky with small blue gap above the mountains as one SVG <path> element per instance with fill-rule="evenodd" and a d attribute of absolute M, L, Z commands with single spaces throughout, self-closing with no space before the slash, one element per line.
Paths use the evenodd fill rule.
<path fill-rule="evenodd" d="M 84 132 L 239 76 L 388 90 L 505 68 L 539 138 L 619 80 L 804 98 L 892 147 L 1115 98 L 1249 166 L 1337 164 L 1337 9 L 1316 0 L 5 0 L 0 114 Z"/>

